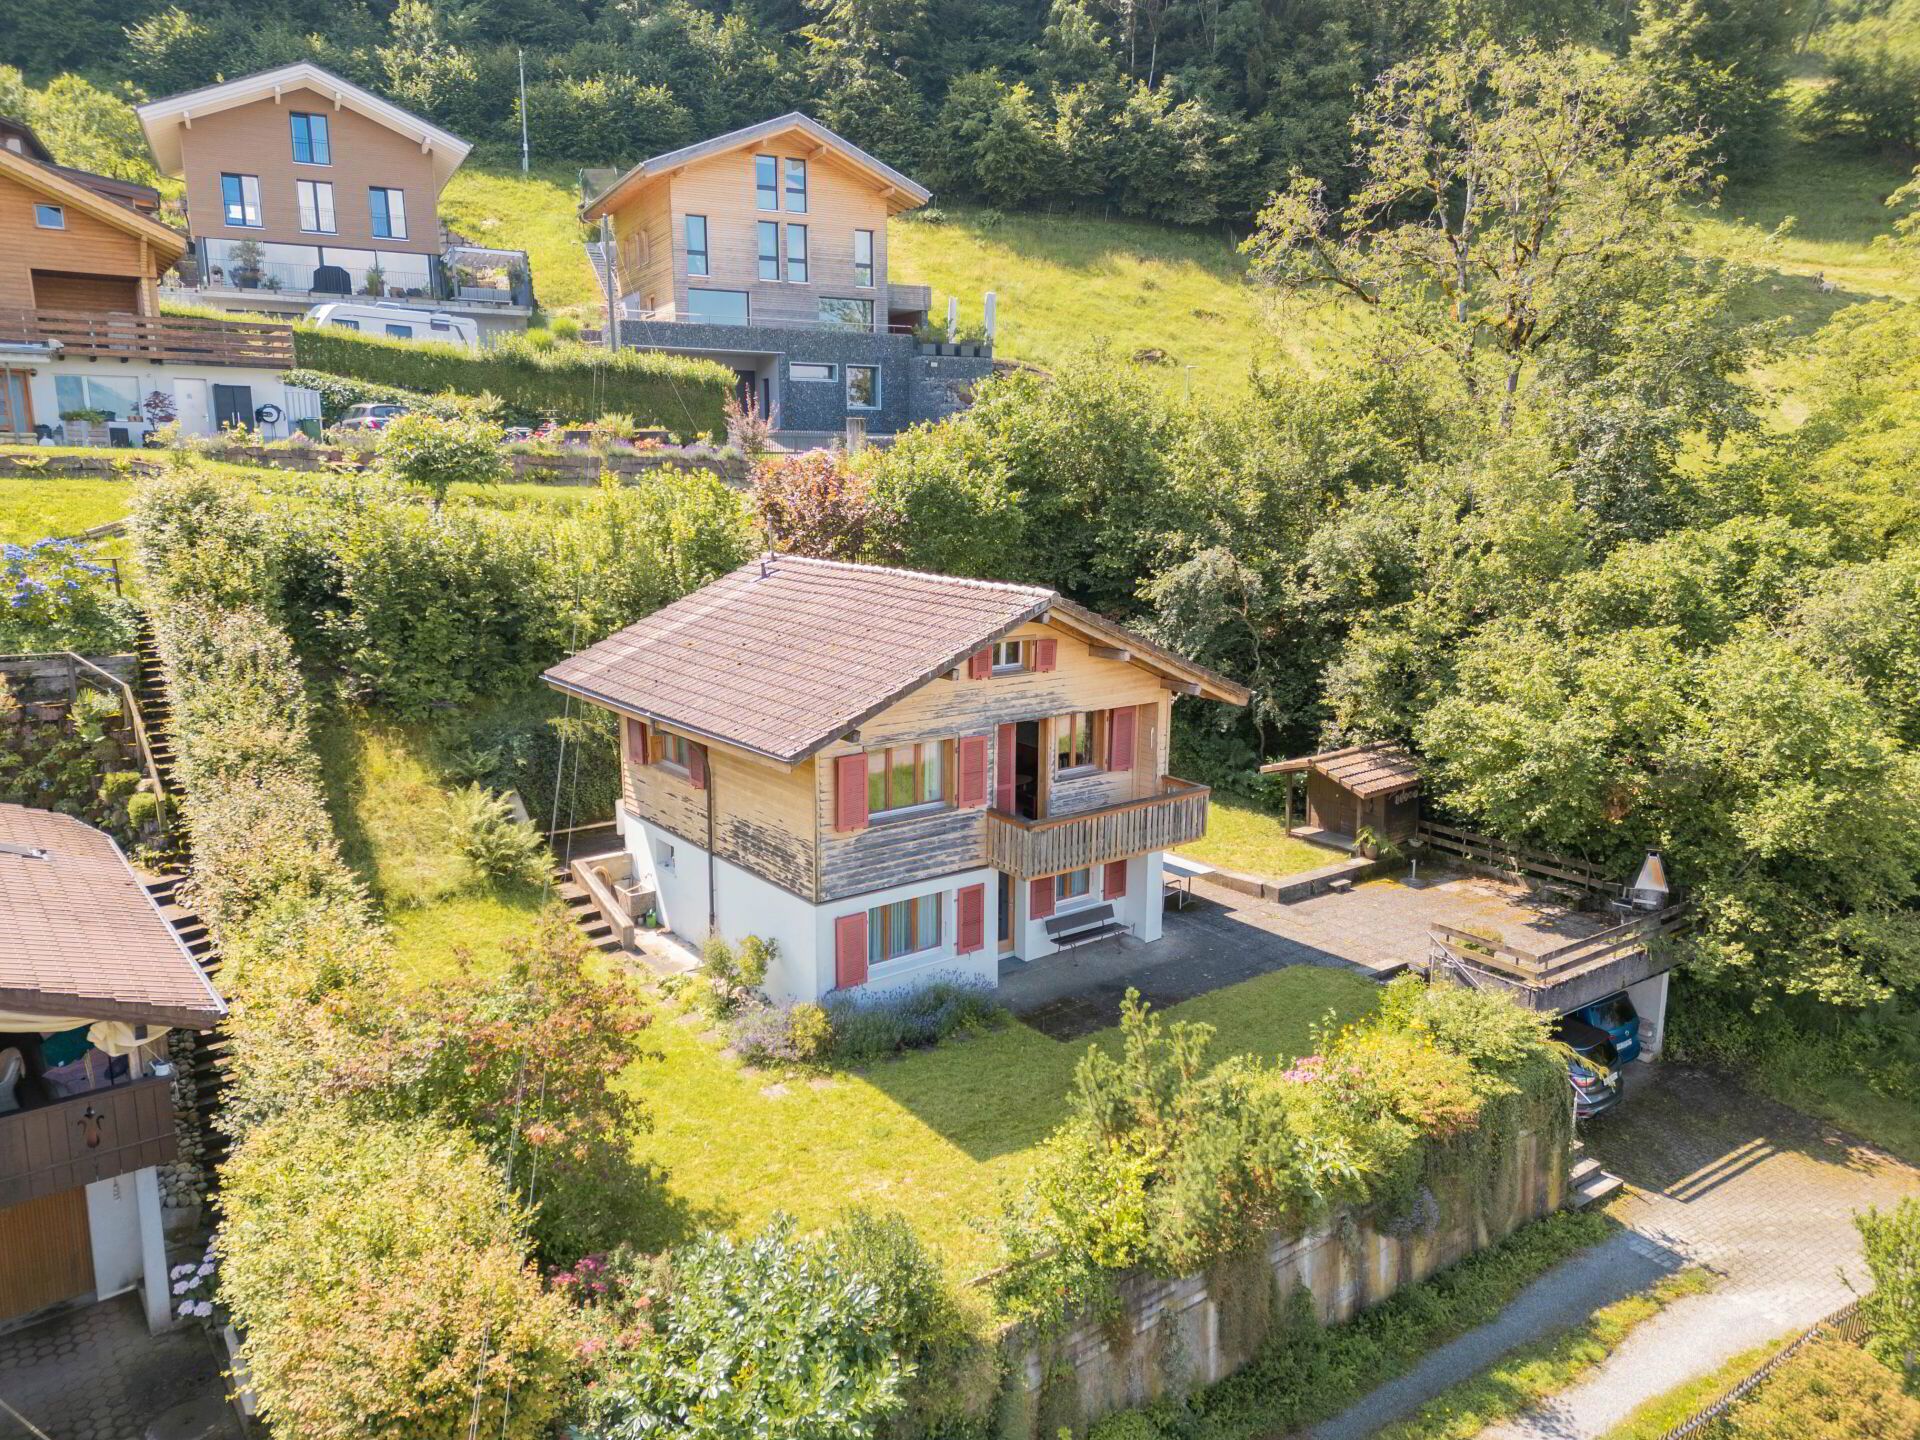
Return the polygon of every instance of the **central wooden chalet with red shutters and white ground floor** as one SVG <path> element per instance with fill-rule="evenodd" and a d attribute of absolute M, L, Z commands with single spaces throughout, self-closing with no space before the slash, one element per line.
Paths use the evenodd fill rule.
<path fill-rule="evenodd" d="M 1158 939 L 1173 697 L 1248 699 L 1052 589 L 791 555 L 545 678 L 624 718 L 632 914 L 778 941 L 781 1000 Z"/>

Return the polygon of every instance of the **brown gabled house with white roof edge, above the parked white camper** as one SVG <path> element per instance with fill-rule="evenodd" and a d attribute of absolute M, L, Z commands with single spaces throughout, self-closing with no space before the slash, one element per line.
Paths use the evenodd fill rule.
<path fill-rule="evenodd" d="M 524 330 L 526 253 L 455 240 L 440 192 L 465 140 L 309 61 L 138 109 L 161 175 L 186 180 L 192 250 L 169 286 L 215 309 L 303 315 L 363 296 L 382 330 L 434 336 L 463 315 L 482 338 Z"/>

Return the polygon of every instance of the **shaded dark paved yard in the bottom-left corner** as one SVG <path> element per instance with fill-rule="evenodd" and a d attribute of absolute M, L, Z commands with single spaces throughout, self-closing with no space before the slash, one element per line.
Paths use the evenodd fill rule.
<path fill-rule="evenodd" d="M 48 1440 L 242 1440 L 213 1336 L 148 1334 L 140 1298 L 0 1334 L 0 1402 Z M 0 1409 L 0 1440 L 33 1440 Z"/>

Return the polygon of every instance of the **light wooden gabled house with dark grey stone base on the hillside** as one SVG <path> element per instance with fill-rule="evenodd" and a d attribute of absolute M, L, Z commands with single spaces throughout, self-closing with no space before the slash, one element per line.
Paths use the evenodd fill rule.
<path fill-rule="evenodd" d="M 887 221 L 929 192 L 806 115 L 582 186 L 609 332 L 730 367 L 785 436 L 891 436 L 993 371 L 991 344 L 931 334 L 927 286 L 889 278 Z"/>

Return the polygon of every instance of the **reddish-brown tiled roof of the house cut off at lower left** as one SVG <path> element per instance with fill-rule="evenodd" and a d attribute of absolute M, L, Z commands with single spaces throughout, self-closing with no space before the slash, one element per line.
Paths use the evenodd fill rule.
<path fill-rule="evenodd" d="M 227 1006 L 108 835 L 0 804 L 0 1010 L 207 1029 Z"/>

